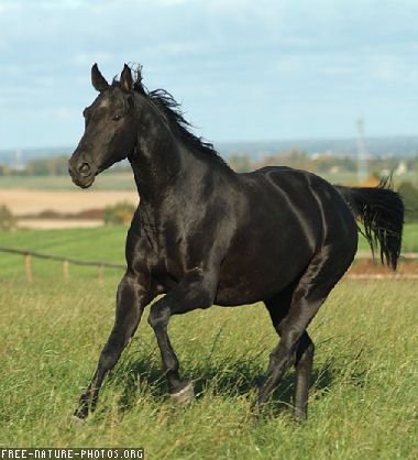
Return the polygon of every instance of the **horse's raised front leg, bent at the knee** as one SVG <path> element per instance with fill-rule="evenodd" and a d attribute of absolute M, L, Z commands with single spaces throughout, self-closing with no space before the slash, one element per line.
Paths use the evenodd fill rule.
<path fill-rule="evenodd" d="M 178 404 L 191 401 L 194 391 L 191 383 L 179 375 L 178 359 L 167 333 L 168 321 L 172 315 L 210 307 L 216 297 L 217 280 L 216 274 L 195 269 L 173 291 L 151 307 L 148 322 L 158 342 L 169 394 Z"/>

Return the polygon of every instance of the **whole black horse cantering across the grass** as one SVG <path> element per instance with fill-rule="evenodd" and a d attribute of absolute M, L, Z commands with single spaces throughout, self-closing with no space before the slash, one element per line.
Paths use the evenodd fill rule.
<path fill-rule="evenodd" d="M 127 272 L 117 294 L 113 329 L 76 416 L 96 407 L 106 374 L 134 335 L 144 308 L 162 354 L 169 393 L 193 398 L 182 379 L 167 326 L 172 315 L 264 302 L 280 336 L 260 388 L 262 406 L 290 365 L 296 368 L 295 415 L 305 418 L 314 343 L 307 327 L 350 266 L 356 219 L 382 262 L 399 258 L 404 206 L 383 183 L 376 188 L 332 186 L 289 167 L 234 173 L 211 144 L 195 136 L 164 90 L 147 91 L 141 69 L 127 65 L 107 83 L 95 64 L 99 96 L 85 109 L 85 133 L 69 160 L 74 183 L 122 158 L 131 163 L 141 202 L 127 238 Z"/>

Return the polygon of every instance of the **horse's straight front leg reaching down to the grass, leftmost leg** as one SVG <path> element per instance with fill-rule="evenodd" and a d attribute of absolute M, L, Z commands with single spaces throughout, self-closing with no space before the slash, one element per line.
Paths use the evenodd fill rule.
<path fill-rule="evenodd" d="M 80 396 L 78 408 L 74 414 L 76 417 L 86 418 L 89 410 L 95 410 L 106 374 L 118 362 L 123 349 L 135 333 L 145 306 L 154 296 L 155 291 L 145 289 L 138 274 L 127 273 L 121 280 L 117 294 L 114 325 L 100 354 L 95 375 Z"/>

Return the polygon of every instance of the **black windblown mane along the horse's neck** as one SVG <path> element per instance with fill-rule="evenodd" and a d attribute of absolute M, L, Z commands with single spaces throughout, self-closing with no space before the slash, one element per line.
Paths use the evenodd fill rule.
<path fill-rule="evenodd" d="M 190 131 L 193 124 L 184 118 L 182 106 L 174 99 L 174 97 L 165 89 L 154 89 L 153 91 L 150 91 L 142 84 L 141 65 L 131 66 L 131 69 L 133 72 L 134 91 L 147 97 L 157 107 L 157 109 L 160 109 L 166 118 L 169 127 L 177 133 L 186 146 L 190 150 L 197 150 L 198 152 L 209 155 L 218 163 L 229 168 L 228 163 L 213 149 L 212 143 L 206 142 L 202 138 L 198 138 Z M 119 81 L 113 79 L 113 85 L 114 84 L 119 85 Z"/>

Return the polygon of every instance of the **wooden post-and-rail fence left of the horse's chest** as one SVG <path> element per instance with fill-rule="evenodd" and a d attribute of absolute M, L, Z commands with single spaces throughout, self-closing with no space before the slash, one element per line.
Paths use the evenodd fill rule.
<path fill-rule="evenodd" d="M 127 269 L 127 265 L 117 264 L 117 263 L 109 263 L 109 262 L 102 262 L 102 261 L 80 261 L 78 259 L 65 258 L 63 255 L 42 254 L 40 252 L 23 251 L 20 249 L 0 248 L 0 252 L 22 255 L 24 258 L 24 271 L 25 271 L 26 280 L 29 283 L 32 283 L 33 281 L 33 267 L 32 267 L 33 259 L 46 259 L 50 261 L 62 262 L 63 263 L 63 276 L 65 280 L 69 278 L 69 265 L 70 264 L 84 265 L 84 266 L 97 266 L 97 273 L 98 273 L 99 280 L 103 277 L 105 269 L 119 269 L 119 270 Z"/>

